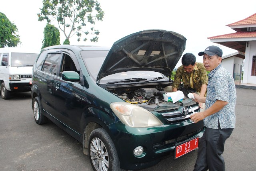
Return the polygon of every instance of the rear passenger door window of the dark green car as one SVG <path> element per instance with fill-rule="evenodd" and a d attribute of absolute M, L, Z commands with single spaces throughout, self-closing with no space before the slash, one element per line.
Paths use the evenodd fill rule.
<path fill-rule="evenodd" d="M 45 71 L 46 73 L 57 75 L 58 63 L 60 61 L 60 58 L 61 58 L 61 54 L 59 53 L 48 54 L 44 62 L 43 71 Z"/>

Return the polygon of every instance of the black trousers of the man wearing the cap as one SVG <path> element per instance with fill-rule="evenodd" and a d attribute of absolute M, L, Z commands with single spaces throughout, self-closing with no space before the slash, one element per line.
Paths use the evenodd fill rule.
<path fill-rule="evenodd" d="M 225 171 L 225 162 L 222 157 L 225 141 L 231 135 L 233 128 L 211 129 L 206 128 L 199 140 L 198 156 L 194 171 Z"/>

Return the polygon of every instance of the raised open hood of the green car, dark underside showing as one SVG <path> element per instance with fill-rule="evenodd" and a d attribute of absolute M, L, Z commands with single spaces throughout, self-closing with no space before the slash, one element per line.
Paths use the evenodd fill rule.
<path fill-rule="evenodd" d="M 116 41 L 98 73 L 97 81 L 126 71 L 156 71 L 169 77 L 185 50 L 186 38 L 165 30 L 144 30 Z"/>

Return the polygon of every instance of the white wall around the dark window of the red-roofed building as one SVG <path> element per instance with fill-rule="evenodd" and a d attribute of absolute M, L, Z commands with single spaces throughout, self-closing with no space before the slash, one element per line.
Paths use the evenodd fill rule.
<path fill-rule="evenodd" d="M 252 56 L 254 55 L 256 55 L 256 41 L 249 41 L 245 50 L 243 83 L 256 84 L 256 76 L 251 76 Z"/>

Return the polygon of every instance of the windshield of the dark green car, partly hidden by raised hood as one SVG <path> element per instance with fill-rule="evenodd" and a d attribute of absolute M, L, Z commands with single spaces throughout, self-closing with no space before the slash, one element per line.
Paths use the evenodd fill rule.
<path fill-rule="evenodd" d="M 92 78 L 96 81 L 100 68 L 108 55 L 108 51 L 81 51 L 82 59 Z M 100 83 L 108 83 L 121 79 L 145 78 L 154 79 L 156 77 L 165 77 L 163 74 L 154 71 L 127 71 L 108 75 L 100 80 Z M 166 78 L 166 77 L 165 77 Z"/>

